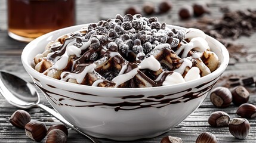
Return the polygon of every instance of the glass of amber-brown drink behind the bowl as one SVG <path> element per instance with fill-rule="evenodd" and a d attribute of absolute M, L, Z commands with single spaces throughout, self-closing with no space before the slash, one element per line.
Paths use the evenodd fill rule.
<path fill-rule="evenodd" d="M 8 0 L 8 35 L 30 42 L 76 22 L 75 0 Z"/>

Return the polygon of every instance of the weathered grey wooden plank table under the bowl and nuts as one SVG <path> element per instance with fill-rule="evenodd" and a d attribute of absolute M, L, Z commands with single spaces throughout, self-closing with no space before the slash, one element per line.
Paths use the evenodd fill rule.
<path fill-rule="evenodd" d="M 209 0 L 208 0 L 209 1 Z M 100 19 L 106 19 L 109 17 L 114 17 L 117 13 L 124 14 L 125 8 L 129 7 L 130 5 L 137 5 L 141 7 L 145 1 L 118 1 L 118 0 L 111 0 L 111 1 L 77 1 L 77 24 L 82 23 L 90 23 L 96 22 Z M 153 0 L 152 0 L 153 2 Z M 159 2 L 154 2 L 156 5 Z M 188 1 L 172 1 L 173 8 L 169 13 L 157 15 L 159 20 L 168 24 L 178 24 L 178 25 L 185 25 L 189 21 L 181 21 L 177 17 L 177 13 L 181 5 L 183 4 L 193 4 L 193 2 Z M 226 5 L 231 8 L 231 10 L 245 10 L 246 8 L 255 8 L 256 1 L 221 1 L 215 0 L 214 2 L 208 2 L 211 15 L 205 15 L 205 17 L 221 17 L 220 13 L 220 6 Z M 0 1 L 0 69 L 1 70 L 8 70 L 16 73 L 17 76 L 21 76 L 26 80 L 30 79 L 29 75 L 23 69 L 21 64 L 20 55 L 21 51 L 26 46 L 26 43 L 21 43 L 14 41 L 13 39 L 9 38 L 7 35 L 7 18 L 6 18 L 6 1 Z M 192 19 L 192 21 L 195 18 Z M 235 43 L 241 43 L 245 45 L 246 51 L 248 54 L 255 55 L 256 54 L 256 34 L 252 35 L 251 37 L 242 37 L 239 38 Z M 240 56 L 240 60 L 235 64 L 232 63 L 227 67 L 227 70 L 224 72 L 221 79 L 225 82 L 226 76 L 230 75 L 239 75 L 239 76 L 256 76 L 256 61 L 246 61 L 246 55 Z M 230 62 L 234 61 L 234 59 L 230 59 Z M 219 82 L 218 85 L 223 84 L 223 82 Z M 256 88 L 254 85 L 246 86 L 251 92 L 251 97 L 249 102 L 252 104 L 256 104 Z M 39 91 L 39 90 L 38 90 Z M 40 91 L 39 91 L 40 92 Z M 45 99 L 42 92 L 41 95 L 41 102 L 42 104 L 51 107 L 50 104 Z M 189 108 L 189 107 L 188 107 Z M 217 137 L 218 142 L 256 142 L 256 119 L 248 119 L 251 123 L 251 133 L 249 134 L 248 138 L 245 140 L 239 140 L 234 138 L 228 128 L 213 128 L 208 124 L 208 117 L 213 111 L 226 111 L 230 118 L 238 117 L 236 115 L 236 110 L 238 107 L 235 105 L 230 105 L 227 108 L 217 108 L 212 105 L 209 101 L 209 96 L 205 99 L 202 105 L 192 113 L 186 120 L 181 122 L 179 125 L 175 126 L 175 128 L 171 129 L 169 132 L 164 133 L 156 138 L 151 139 L 140 139 L 138 141 L 133 142 L 160 142 L 164 136 L 178 136 L 183 139 L 184 142 L 195 142 L 196 138 L 200 133 L 203 131 L 208 131 L 214 133 Z M 27 138 L 24 133 L 24 130 L 17 129 L 8 122 L 8 118 L 11 114 L 16 111 L 17 108 L 13 107 L 13 105 L 8 104 L 7 101 L 4 100 L 2 96 L 0 96 L 0 142 L 34 142 L 31 139 Z M 40 110 L 39 108 L 32 108 L 27 110 L 34 120 L 40 120 L 45 122 L 47 127 L 55 124 L 59 124 L 54 117 L 50 114 L 45 113 L 44 111 Z M 101 142 L 115 142 L 109 139 L 99 139 Z M 42 140 L 42 142 L 44 142 Z M 69 136 L 67 142 L 90 142 L 87 138 L 82 135 L 79 135 L 73 130 L 69 130 Z"/>

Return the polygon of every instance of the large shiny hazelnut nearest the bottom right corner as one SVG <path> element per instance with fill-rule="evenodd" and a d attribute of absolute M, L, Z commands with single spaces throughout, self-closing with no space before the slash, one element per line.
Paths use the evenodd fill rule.
<path fill-rule="evenodd" d="M 239 139 L 245 139 L 249 135 L 250 129 L 250 123 L 244 118 L 234 118 L 229 123 L 229 132 Z"/>

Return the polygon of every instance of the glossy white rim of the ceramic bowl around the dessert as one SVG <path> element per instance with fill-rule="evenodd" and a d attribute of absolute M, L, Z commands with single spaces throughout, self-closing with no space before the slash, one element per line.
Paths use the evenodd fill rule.
<path fill-rule="evenodd" d="M 162 89 L 166 89 L 166 88 L 179 88 L 181 86 L 187 87 L 189 85 L 196 85 L 199 83 L 203 83 L 203 82 L 207 82 L 210 79 L 214 79 L 217 78 L 219 76 L 221 76 L 221 74 L 224 72 L 224 70 L 226 70 L 227 65 L 229 64 L 229 52 L 227 51 L 227 48 L 220 43 L 219 41 L 217 41 L 216 39 L 212 38 L 209 35 L 206 35 L 206 39 L 209 39 L 210 41 L 213 41 L 214 43 L 217 43 L 217 45 L 219 45 L 220 51 L 223 55 L 223 62 L 220 63 L 220 66 L 218 67 L 218 69 L 216 69 L 215 71 L 213 71 L 212 73 L 203 76 L 199 79 L 196 80 L 191 80 L 189 82 L 184 82 L 184 83 L 177 83 L 175 85 L 166 85 L 166 86 L 156 86 L 156 87 L 147 87 L 147 88 L 105 88 L 105 87 L 98 87 L 98 86 L 88 86 L 88 85 L 79 85 L 76 83 L 70 83 L 70 82 L 66 82 L 63 80 L 58 80 L 58 79 L 54 79 L 53 77 L 49 77 L 49 76 L 45 76 L 42 73 L 39 73 L 38 71 L 36 71 L 35 69 L 33 69 L 33 67 L 29 64 L 29 59 L 28 59 L 28 55 L 30 54 L 32 50 L 32 48 L 30 48 L 30 46 L 33 45 L 37 45 L 37 43 L 39 43 L 40 41 L 42 41 L 43 39 L 47 39 L 49 38 L 51 35 L 53 35 L 54 33 L 58 33 L 61 32 L 62 30 L 69 30 L 69 29 L 76 29 L 79 30 L 81 29 L 81 27 L 87 26 L 88 24 L 79 24 L 79 25 L 75 25 L 75 26 L 70 26 L 70 27 L 65 27 L 63 29 L 58 29 L 58 30 L 54 30 L 53 32 L 50 33 L 46 33 L 45 35 L 39 36 L 38 38 L 34 39 L 32 42 L 28 43 L 22 53 L 21 53 L 21 62 L 23 64 L 23 67 L 25 68 L 25 70 L 27 71 L 27 73 L 34 73 L 34 74 L 38 74 L 38 76 L 42 76 L 44 77 L 44 79 L 49 80 L 49 82 L 51 83 L 61 83 L 61 85 L 66 85 L 66 86 L 70 86 L 70 88 L 90 88 L 90 89 L 95 89 L 95 90 L 101 90 L 101 91 L 127 91 L 129 90 L 130 92 L 138 92 L 138 91 L 152 91 L 152 90 L 162 90 Z M 184 30 L 188 30 L 185 27 L 180 27 L 180 26 L 174 26 L 171 24 L 167 24 L 168 27 L 174 27 L 177 29 L 184 29 Z M 75 32 L 75 30 L 74 30 Z M 61 35 L 59 35 L 61 36 Z M 45 48 L 45 47 L 44 47 Z M 30 74 L 30 76 L 32 76 Z M 131 90 L 132 89 L 132 90 Z"/>

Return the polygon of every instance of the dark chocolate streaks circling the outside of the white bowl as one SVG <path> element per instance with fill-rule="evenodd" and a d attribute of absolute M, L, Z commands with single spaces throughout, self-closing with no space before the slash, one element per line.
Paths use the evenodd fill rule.
<path fill-rule="evenodd" d="M 145 97 L 144 95 L 127 95 L 124 97 L 115 97 L 115 98 L 121 98 L 122 100 L 134 99 L 132 101 L 136 100 L 136 102 L 124 101 L 124 102 L 117 102 L 117 103 L 89 102 L 89 101 L 85 101 L 85 100 L 77 100 L 74 98 L 67 97 L 65 95 L 60 95 L 60 94 L 56 94 L 54 92 L 48 91 L 47 89 L 42 88 L 38 84 L 36 84 L 36 86 L 38 86 L 45 93 L 45 95 L 47 95 L 50 98 L 50 100 L 53 101 L 54 104 L 56 104 L 56 105 L 63 105 L 63 103 L 61 103 L 61 101 L 64 101 L 64 100 L 73 100 L 73 101 L 78 101 L 78 102 L 90 103 L 91 105 L 70 105 L 70 104 L 64 104 L 64 105 L 72 106 L 72 107 L 101 107 L 101 108 L 106 108 L 105 106 L 107 106 L 110 108 L 114 108 L 115 111 L 119 111 L 119 110 L 136 110 L 136 109 L 140 109 L 140 108 L 149 108 L 149 107 L 162 108 L 169 104 L 177 104 L 180 102 L 188 102 L 190 100 L 194 100 L 194 99 L 199 98 L 202 95 L 206 94 L 206 92 L 209 92 L 212 89 L 212 86 L 215 85 L 215 83 L 217 82 L 217 79 L 219 77 L 220 76 L 216 77 L 215 79 L 213 79 L 209 82 L 205 82 L 199 86 L 196 86 L 196 89 L 202 88 L 196 92 L 192 92 L 192 88 L 189 88 L 189 89 L 186 89 L 186 90 L 183 90 L 180 92 L 176 92 L 173 94 L 152 95 L 147 98 L 144 98 Z M 208 86 L 206 86 L 206 85 L 208 85 Z M 203 86 L 206 86 L 206 87 L 203 87 Z M 53 86 L 49 86 L 49 87 L 53 88 Z M 68 91 L 68 92 L 73 92 L 73 91 Z M 183 92 L 184 92 L 184 95 L 182 95 L 181 97 L 163 99 L 164 97 L 171 97 L 172 95 L 175 95 L 175 94 L 183 94 Z M 98 95 L 88 94 L 85 92 L 73 92 L 73 93 L 81 94 L 81 95 L 91 95 L 91 96 L 96 96 L 96 97 L 98 96 Z M 57 95 L 61 98 L 58 98 L 58 100 L 57 100 L 51 94 L 53 96 Z M 125 107 L 129 107 L 129 108 L 125 108 Z M 133 108 L 131 108 L 131 107 L 133 107 Z"/>

